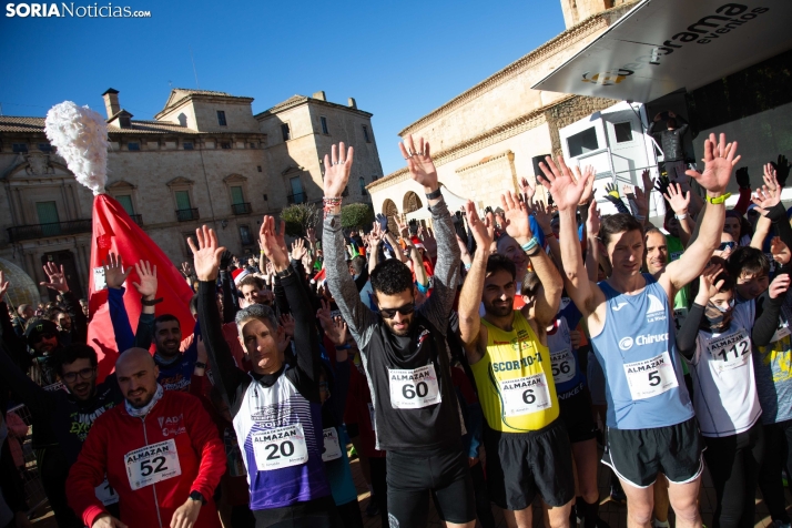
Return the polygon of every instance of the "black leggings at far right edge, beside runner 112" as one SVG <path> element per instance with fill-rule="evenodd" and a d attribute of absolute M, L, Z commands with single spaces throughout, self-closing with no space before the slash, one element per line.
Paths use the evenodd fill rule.
<path fill-rule="evenodd" d="M 759 471 L 759 489 L 774 521 L 790 524 L 781 469 L 792 479 L 792 420 L 764 426 L 764 461 Z"/>

